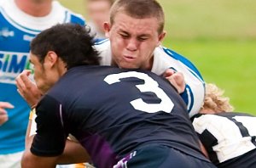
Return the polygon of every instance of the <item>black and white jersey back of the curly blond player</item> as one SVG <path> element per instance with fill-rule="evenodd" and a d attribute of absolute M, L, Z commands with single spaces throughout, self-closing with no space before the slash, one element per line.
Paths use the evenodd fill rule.
<path fill-rule="evenodd" d="M 243 113 L 195 115 L 195 132 L 214 165 L 256 167 L 256 117 Z"/>

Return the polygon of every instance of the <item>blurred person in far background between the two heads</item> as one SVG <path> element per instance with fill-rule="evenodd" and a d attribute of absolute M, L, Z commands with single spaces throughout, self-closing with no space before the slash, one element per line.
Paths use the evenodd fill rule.
<path fill-rule="evenodd" d="M 90 26 L 90 35 L 96 35 L 96 39 L 106 38 L 104 22 L 109 20 L 109 11 L 114 0 L 86 0 L 87 25 Z"/>

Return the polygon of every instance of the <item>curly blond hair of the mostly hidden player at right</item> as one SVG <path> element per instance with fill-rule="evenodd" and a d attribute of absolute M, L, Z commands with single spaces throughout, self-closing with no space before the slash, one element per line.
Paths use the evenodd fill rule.
<path fill-rule="evenodd" d="M 214 112 L 231 112 L 234 107 L 230 104 L 230 98 L 224 97 L 224 90 L 218 88 L 215 84 L 206 84 L 206 97 L 201 111 L 212 109 Z"/>

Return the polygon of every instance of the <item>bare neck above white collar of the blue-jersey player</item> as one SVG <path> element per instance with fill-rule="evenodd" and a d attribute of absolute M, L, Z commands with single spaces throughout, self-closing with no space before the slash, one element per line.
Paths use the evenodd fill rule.
<path fill-rule="evenodd" d="M 15 0 L 20 10 L 34 17 L 44 17 L 50 13 L 52 0 Z"/>

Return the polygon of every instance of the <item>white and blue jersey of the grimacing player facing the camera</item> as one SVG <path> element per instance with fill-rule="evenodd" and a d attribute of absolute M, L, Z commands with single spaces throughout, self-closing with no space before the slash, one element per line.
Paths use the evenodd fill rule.
<path fill-rule="evenodd" d="M 112 52 L 110 42 L 108 40 L 97 42 L 95 48 L 100 52 L 100 56 L 102 57 L 101 64 L 111 65 Z M 189 116 L 197 114 L 205 96 L 204 81 L 200 72 L 195 68 L 194 64 L 178 53 L 161 46 L 155 48 L 151 71 L 161 76 L 167 69 L 173 69 L 183 73 L 186 88 L 181 93 L 181 96 L 187 104 Z"/>

